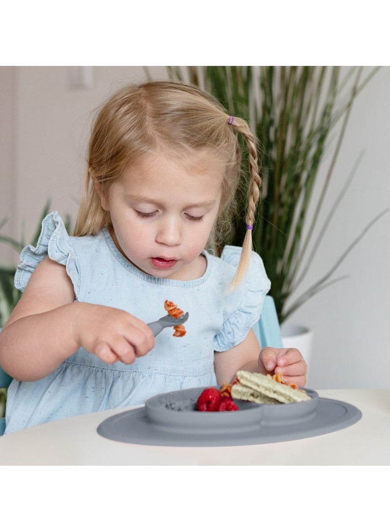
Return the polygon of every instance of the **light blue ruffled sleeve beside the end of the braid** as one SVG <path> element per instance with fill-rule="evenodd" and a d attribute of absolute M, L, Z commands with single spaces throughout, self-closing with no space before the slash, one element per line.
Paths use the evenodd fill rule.
<path fill-rule="evenodd" d="M 238 265 L 241 248 L 226 246 L 221 259 L 235 267 Z M 271 282 L 265 272 L 263 261 L 252 252 L 251 262 L 242 284 L 231 293 L 233 309 L 223 322 L 222 330 L 214 337 L 214 350 L 227 351 L 242 342 L 259 320 L 264 297 Z"/>

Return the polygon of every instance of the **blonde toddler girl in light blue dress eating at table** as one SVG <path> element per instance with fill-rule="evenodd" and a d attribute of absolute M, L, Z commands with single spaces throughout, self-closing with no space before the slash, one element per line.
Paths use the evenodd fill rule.
<path fill-rule="evenodd" d="M 217 257 L 239 182 L 237 134 L 250 166 L 247 231 L 243 248 Z M 304 385 L 301 353 L 261 351 L 252 330 L 270 282 L 252 252 L 260 178 L 246 122 L 193 86 L 126 86 L 101 107 L 87 162 L 74 236 L 53 212 L 21 254 L 23 295 L 0 335 L 15 379 L 6 433 L 229 383 L 239 369 Z M 189 313 L 186 336 L 147 327 L 165 300 Z"/>

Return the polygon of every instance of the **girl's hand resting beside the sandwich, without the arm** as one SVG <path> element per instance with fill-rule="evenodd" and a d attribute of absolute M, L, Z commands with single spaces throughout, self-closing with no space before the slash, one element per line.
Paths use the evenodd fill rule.
<path fill-rule="evenodd" d="M 287 384 L 304 386 L 308 365 L 302 353 L 295 348 L 264 347 L 259 355 L 259 371 L 271 375 L 282 373 Z"/>

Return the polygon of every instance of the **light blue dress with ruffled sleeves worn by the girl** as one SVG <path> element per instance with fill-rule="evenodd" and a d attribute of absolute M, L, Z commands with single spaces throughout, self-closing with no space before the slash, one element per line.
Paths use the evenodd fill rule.
<path fill-rule="evenodd" d="M 144 403 L 171 390 L 217 384 L 214 351 L 242 342 L 260 317 L 270 281 L 260 256 L 252 253 L 243 283 L 227 293 L 241 248 L 227 246 L 221 258 L 204 251 L 204 275 L 190 281 L 155 278 L 135 268 L 115 246 L 109 231 L 70 237 L 57 212 L 48 214 L 36 247 L 27 246 L 15 275 L 24 290 L 45 256 L 65 265 L 76 301 L 123 309 L 146 323 L 166 314 L 164 301 L 189 313 L 187 334 L 164 329 L 147 355 L 131 365 L 105 364 L 80 348 L 47 377 L 14 380 L 9 388 L 6 433 L 65 418 Z M 47 331 L 50 334 L 50 331 Z"/>

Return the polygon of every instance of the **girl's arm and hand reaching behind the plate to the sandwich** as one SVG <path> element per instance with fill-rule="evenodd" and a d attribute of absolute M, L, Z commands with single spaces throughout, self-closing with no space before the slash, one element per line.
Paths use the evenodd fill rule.
<path fill-rule="evenodd" d="M 238 370 L 283 373 L 286 383 L 306 384 L 307 364 L 300 351 L 292 348 L 264 347 L 261 350 L 253 330 L 243 342 L 229 351 L 214 353 L 214 368 L 218 384 L 231 383 Z"/>

